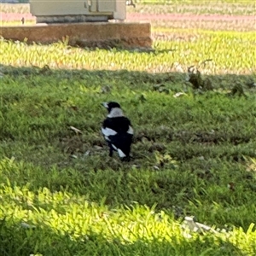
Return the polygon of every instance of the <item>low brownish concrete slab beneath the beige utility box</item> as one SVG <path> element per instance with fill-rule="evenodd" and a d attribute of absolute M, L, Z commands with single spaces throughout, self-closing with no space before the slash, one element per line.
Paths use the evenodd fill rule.
<path fill-rule="evenodd" d="M 122 44 L 125 47 L 150 48 L 149 23 L 93 22 L 72 24 L 38 24 L 36 26 L 2 26 L 0 36 L 27 43 L 49 44 L 69 37 L 71 45 L 98 46 Z"/>

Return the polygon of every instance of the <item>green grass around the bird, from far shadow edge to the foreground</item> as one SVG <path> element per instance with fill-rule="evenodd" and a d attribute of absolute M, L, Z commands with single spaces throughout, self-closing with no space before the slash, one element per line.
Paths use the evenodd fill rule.
<path fill-rule="evenodd" d="M 255 253 L 255 90 L 226 95 L 253 76 L 210 76 L 215 91 L 197 94 L 175 73 L 2 73 L 1 255 Z M 173 97 L 178 91 L 187 96 Z M 100 135 L 107 100 L 132 119 L 131 163 L 108 158 Z M 187 238 L 186 215 L 231 230 Z"/>

